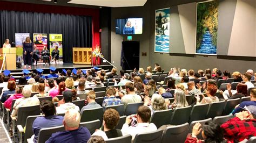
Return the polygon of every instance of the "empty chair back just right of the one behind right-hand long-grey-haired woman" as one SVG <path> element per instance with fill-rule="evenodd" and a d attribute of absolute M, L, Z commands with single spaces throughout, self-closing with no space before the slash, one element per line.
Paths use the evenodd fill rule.
<path fill-rule="evenodd" d="M 209 104 L 194 105 L 190 114 L 190 123 L 194 120 L 206 119 Z"/>

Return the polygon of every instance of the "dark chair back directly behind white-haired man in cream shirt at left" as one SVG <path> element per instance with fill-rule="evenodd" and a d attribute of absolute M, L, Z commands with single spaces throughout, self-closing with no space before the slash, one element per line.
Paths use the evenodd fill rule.
<path fill-rule="evenodd" d="M 20 107 L 18 110 L 17 125 L 22 125 L 24 127 L 28 116 L 40 115 L 40 113 L 41 110 L 39 105 Z"/>

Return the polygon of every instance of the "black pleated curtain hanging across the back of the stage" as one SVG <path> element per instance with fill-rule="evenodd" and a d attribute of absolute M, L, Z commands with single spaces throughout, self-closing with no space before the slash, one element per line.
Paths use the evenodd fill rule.
<path fill-rule="evenodd" d="M 92 47 L 92 18 L 21 11 L 0 11 L 0 44 L 6 38 L 15 42 L 15 33 L 49 33 L 63 35 L 63 62 L 72 62 L 72 47 Z M 49 40 L 48 40 L 49 49 Z"/>

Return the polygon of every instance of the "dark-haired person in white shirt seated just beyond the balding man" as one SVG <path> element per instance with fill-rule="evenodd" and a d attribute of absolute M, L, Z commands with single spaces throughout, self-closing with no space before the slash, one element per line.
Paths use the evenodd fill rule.
<path fill-rule="evenodd" d="M 64 104 L 60 104 L 60 106 L 56 108 L 57 114 L 66 113 L 66 111 L 70 109 L 74 109 L 79 112 L 80 110 L 79 107 L 72 103 L 73 93 L 70 90 L 64 91 L 63 99 L 64 99 Z"/>

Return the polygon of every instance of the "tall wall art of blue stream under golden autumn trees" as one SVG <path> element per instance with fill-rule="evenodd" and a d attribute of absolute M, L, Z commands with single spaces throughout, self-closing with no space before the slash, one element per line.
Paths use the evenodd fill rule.
<path fill-rule="evenodd" d="M 196 54 L 217 54 L 218 2 L 197 3 Z"/>

